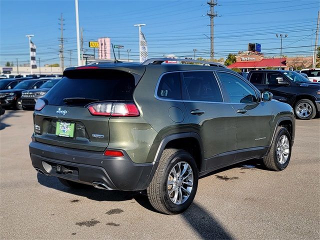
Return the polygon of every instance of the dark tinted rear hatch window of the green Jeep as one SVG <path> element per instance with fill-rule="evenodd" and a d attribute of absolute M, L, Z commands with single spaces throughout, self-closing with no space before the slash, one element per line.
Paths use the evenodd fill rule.
<path fill-rule="evenodd" d="M 92 101 L 133 100 L 135 88 L 132 74 L 119 70 L 70 70 L 48 91 L 50 105 L 84 106 Z M 87 101 L 66 103 L 65 98 L 86 98 Z"/>

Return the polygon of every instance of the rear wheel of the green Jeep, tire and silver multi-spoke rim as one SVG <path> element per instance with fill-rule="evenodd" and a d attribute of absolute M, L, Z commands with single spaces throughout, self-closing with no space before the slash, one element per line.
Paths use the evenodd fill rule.
<path fill-rule="evenodd" d="M 173 168 L 178 174 L 174 173 Z M 176 179 L 185 168 L 181 178 Z M 182 180 L 182 177 L 187 177 L 185 178 L 187 180 Z M 172 184 L 169 184 L 171 182 Z M 190 206 L 197 185 L 198 170 L 192 155 L 184 150 L 168 148 L 162 152 L 159 165 L 146 192 L 155 210 L 173 215 L 183 212 Z"/>

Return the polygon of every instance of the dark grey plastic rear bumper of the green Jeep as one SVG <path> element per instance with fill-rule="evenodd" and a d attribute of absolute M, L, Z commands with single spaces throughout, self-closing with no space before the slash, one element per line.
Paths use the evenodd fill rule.
<path fill-rule="evenodd" d="M 52 146 L 40 142 L 29 144 L 31 162 L 34 168 L 47 175 L 90 184 L 102 182 L 114 190 L 143 190 L 151 180 L 153 163 L 133 163 L 129 156 L 107 157 L 102 152 L 78 150 Z M 56 165 L 72 172 L 59 173 Z"/>

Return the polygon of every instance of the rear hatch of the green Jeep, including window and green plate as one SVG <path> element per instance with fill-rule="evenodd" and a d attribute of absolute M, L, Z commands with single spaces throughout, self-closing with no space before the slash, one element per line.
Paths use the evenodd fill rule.
<path fill-rule="evenodd" d="M 74 69 L 42 98 L 34 111 L 36 141 L 70 148 L 103 151 L 109 141 L 110 116 L 92 115 L 92 102 L 133 102 L 136 74 L 113 69 Z"/>

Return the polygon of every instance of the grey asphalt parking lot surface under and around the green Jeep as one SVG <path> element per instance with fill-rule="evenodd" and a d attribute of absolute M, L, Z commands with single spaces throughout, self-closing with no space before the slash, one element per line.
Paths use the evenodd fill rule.
<path fill-rule="evenodd" d="M 199 180 L 190 208 L 154 212 L 137 192 L 72 190 L 31 166 L 32 111 L 0 125 L 1 239 L 319 239 L 320 119 L 296 120 L 281 172 L 244 162 Z"/>

